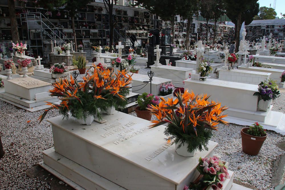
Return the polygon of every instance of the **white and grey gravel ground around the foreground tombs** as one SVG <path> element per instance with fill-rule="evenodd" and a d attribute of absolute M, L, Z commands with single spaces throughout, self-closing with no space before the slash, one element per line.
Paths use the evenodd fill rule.
<path fill-rule="evenodd" d="M 140 68 L 140 74 L 149 71 L 145 66 L 136 67 Z M 79 75 L 79 78 L 82 76 Z M 285 113 L 284 97 L 285 93 L 282 93 L 273 102 L 274 111 Z M 57 116 L 58 111 L 50 111 L 46 119 L 38 124 L 36 120 L 41 113 L 27 112 L 0 101 L 0 135 L 5 151 L 0 160 L 0 189 L 50 189 L 50 179 L 30 178 L 25 172 L 42 161 L 43 150 L 53 146 L 51 126 L 46 119 Z M 131 115 L 136 116 L 135 113 Z M 220 126 L 212 137 L 219 143 L 215 154 L 229 162 L 229 169 L 235 172 L 236 180 L 254 185 L 257 189 L 274 189 L 270 183 L 272 163 L 285 153 L 275 144 L 285 141 L 285 137 L 268 132 L 258 156 L 249 156 L 242 152 L 240 130 L 243 127 L 236 124 Z"/>

